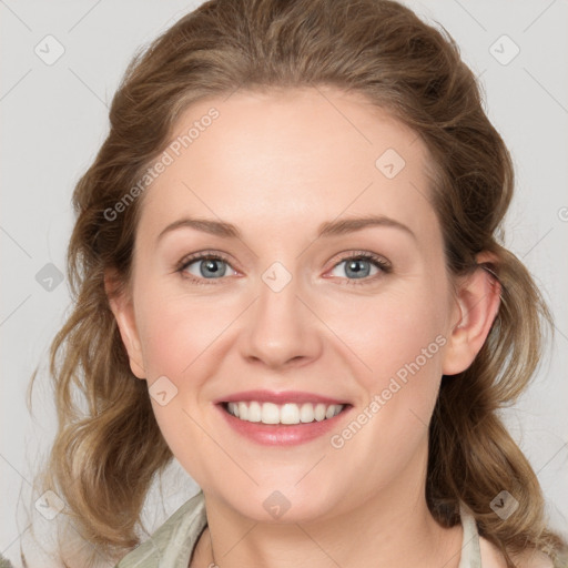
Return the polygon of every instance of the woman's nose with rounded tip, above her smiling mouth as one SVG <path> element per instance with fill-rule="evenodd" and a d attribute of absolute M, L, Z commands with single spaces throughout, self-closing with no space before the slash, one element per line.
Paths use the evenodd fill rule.
<path fill-rule="evenodd" d="M 298 292 L 297 278 L 280 291 L 260 283 L 241 337 L 242 354 L 250 363 L 273 369 L 297 367 L 321 355 L 321 322 Z"/>

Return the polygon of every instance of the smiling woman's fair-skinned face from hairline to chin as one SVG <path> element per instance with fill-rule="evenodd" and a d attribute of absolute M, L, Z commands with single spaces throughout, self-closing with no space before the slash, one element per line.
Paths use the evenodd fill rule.
<path fill-rule="evenodd" d="M 460 371 L 422 140 L 329 89 L 202 101 L 175 130 L 119 316 L 174 456 L 258 520 L 422 495 L 440 377 Z"/>

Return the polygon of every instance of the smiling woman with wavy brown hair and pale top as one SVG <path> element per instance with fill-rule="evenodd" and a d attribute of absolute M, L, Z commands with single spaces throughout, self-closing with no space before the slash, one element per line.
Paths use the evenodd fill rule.
<path fill-rule="evenodd" d="M 498 241 L 511 162 L 450 38 L 384 0 L 213 0 L 110 118 L 45 478 L 99 554 L 565 565 L 496 414 L 548 312 Z M 172 457 L 201 491 L 138 546 Z"/>

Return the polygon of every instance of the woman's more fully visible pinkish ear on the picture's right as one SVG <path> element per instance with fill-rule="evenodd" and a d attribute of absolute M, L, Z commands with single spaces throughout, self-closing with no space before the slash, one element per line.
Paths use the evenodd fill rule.
<path fill-rule="evenodd" d="M 476 260 L 475 272 L 457 284 L 456 310 L 444 353 L 444 375 L 456 375 L 471 365 L 499 311 L 501 286 L 486 265 L 495 265 L 497 257 L 480 253 Z"/>

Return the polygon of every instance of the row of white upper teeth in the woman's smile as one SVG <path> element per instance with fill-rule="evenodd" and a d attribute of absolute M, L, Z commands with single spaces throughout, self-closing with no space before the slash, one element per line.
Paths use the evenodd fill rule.
<path fill-rule="evenodd" d="M 227 410 L 233 416 L 246 422 L 262 422 L 263 424 L 307 424 L 314 420 L 322 422 L 337 416 L 344 408 L 343 404 L 325 405 L 322 403 L 304 403 L 298 406 L 294 403 L 276 405 L 274 403 L 229 403 Z"/>

